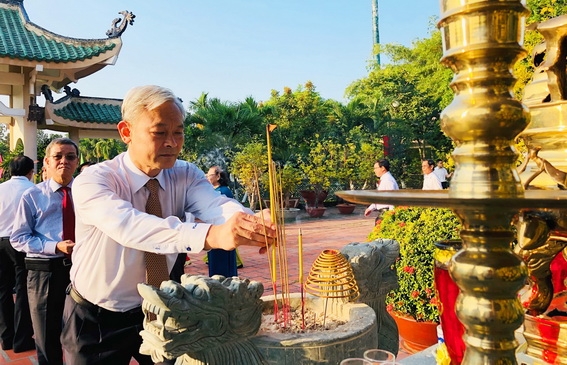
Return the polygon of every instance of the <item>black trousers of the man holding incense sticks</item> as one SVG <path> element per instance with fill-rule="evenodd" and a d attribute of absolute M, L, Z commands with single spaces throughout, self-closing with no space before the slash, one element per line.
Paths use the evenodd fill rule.
<path fill-rule="evenodd" d="M 81 305 L 67 295 L 61 335 L 65 360 L 73 365 L 128 365 L 134 358 L 140 365 L 153 365 L 150 356 L 140 354 L 143 319 L 141 308 L 112 312 L 89 302 Z"/>

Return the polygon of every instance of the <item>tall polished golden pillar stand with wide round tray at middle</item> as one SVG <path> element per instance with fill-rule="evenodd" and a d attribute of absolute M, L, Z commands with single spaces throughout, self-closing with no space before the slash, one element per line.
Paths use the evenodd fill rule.
<path fill-rule="evenodd" d="M 345 191 L 361 204 L 450 207 L 463 223 L 463 249 L 450 273 L 461 290 L 456 311 L 466 331 L 464 364 L 516 364 L 514 331 L 524 321 L 518 291 L 527 267 L 511 250 L 512 218 L 524 208 L 567 207 L 567 192 L 524 191 L 514 139 L 529 124 L 527 108 L 514 99 L 514 63 L 524 17 L 520 0 L 441 0 L 444 55 L 455 76 L 453 102 L 441 115 L 455 142 L 449 191 Z"/>

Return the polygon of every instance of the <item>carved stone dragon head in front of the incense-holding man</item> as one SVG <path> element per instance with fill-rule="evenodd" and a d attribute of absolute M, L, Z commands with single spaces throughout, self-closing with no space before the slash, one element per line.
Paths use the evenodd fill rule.
<path fill-rule="evenodd" d="M 176 365 L 267 364 L 250 338 L 262 321 L 262 283 L 238 277 L 184 275 L 159 289 L 138 284 L 144 299 L 140 353 Z M 151 318 L 156 318 L 152 320 Z"/>

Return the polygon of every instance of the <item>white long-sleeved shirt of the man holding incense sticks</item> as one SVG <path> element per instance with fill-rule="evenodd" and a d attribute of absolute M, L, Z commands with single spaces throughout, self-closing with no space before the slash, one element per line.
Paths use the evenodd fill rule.
<path fill-rule="evenodd" d="M 159 218 L 145 213 L 149 179 L 125 152 L 89 167 L 74 182 L 71 282 L 85 299 L 111 311 L 141 305 L 137 284 L 146 279 L 144 251 L 168 254 L 171 271 L 178 253 L 203 249 L 211 224 L 252 213 L 215 191 L 198 167 L 178 160 L 156 176 L 167 217 Z M 207 223 L 184 222 L 187 213 Z"/>

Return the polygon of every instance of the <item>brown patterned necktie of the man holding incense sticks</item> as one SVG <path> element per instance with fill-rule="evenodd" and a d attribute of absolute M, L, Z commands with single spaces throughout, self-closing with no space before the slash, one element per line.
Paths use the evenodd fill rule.
<path fill-rule="evenodd" d="M 146 213 L 162 217 L 161 204 L 159 202 L 159 182 L 156 179 L 150 179 L 146 183 L 146 188 L 150 191 L 148 201 L 146 202 Z M 169 280 L 165 255 L 145 252 L 145 258 L 146 282 L 159 288 L 162 281 Z"/>

